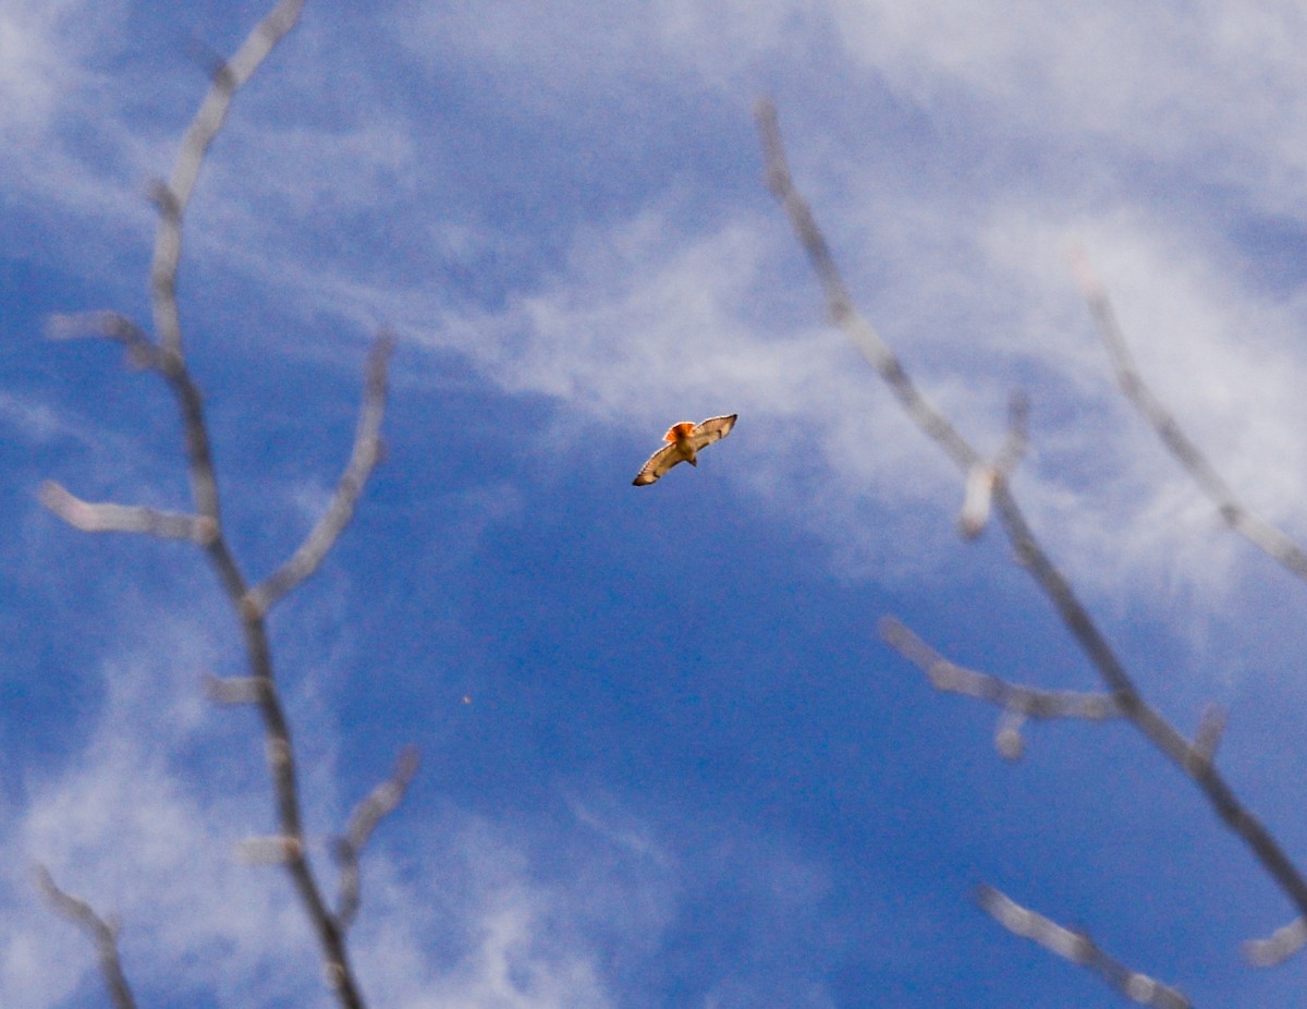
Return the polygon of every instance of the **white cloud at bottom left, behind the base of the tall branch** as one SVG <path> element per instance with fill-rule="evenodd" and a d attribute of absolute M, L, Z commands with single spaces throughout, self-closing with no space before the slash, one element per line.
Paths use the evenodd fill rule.
<path fill-rule="evenodd" d="M 234 857 L 238 840 L 265 833 L 271 810 L 252 725 L 212 708 L 190 674 L 212 664 L 208 631 L 167 620 L 150 627 L 153 659 L 135 652 L 106 665 L 106 701 L 85 746 L 34 774 L 25 804 L 7 810 L 0 1002 L 37 1009 L 74 993 L 85 1004 L 102 997 L 89 941 L 37 898 L 27 867 L 41 861 L 119 923 L 142 1001 L 195 991 L 220 1005 L 331 1005 L 289 882 Z M 302 736 L 322 729 L 293 714 Z M 306 792 L 328 796 L 308 802 L 310 822 L 335 805 L 329 767 L 316 766 L 323 750 L 319 741 L 298 754 Z M 637 890 L 650 885 L 639 873 L 596 873 L 578 852 L 572 891 L 535 881 L 503 825 L 413 801 L 397 816 L 409 836 L 430 843 L 409 850 L 416 867 L 396 865 L 384 839 L 366 853 L 353 949 L 372 999 L 413 1009 L 613 1004 L 592 948 L 614 929 L 654 924 L 631 916 L 644 899 Z M 323 878 L 329 890 L 331 874 Z"/>

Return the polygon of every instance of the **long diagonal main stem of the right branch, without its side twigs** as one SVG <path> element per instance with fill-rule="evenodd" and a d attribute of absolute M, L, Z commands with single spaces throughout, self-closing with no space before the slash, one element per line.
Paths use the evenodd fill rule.
<path fill-rule="evenodd" d="M 776 108 L 771 101 L 766 98 L 758 101 L 755 118 L 766 159 L 767 184 L 786 209 L 791 226 L 821 281 L 827 315 L 876 367 L 890 391 L 903 404 L 908 417 L 944 448 L 963 473 L 968 473 L 976 463 L 982 461 L 979 454 L 948 418 L 921 397 L 889 346 L 853 308 L 848 288 L 839 273 L 826 238 L 817 226 L 808 204 L 795 188 L 786 162 Z M 1238 800 L 1212 763 L 1210 752 L 1191 745 L 1144 701 L 1125 667 L 1090 617 L 1089 610 L 1077 599 L 1070 583 L 1039 545 L 1008 482 L 995 480 L 992 494 L 1018 562 L 1053 604 L 1063 623 L 1111 691 L 1121 715 L 1129 719 L 1157 749 L 1199 786 L 1217 816 L 1243 839 L 1298 911 L 1307 915 L 1307 880 L 1285 855 L 1274 836 Z"/>

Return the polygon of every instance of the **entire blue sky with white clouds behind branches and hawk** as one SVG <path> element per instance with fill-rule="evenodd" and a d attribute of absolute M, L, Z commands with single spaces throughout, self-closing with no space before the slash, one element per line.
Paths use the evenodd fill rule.
<path fill-rule="evenodd" d="M 328 1005 L 281 874 L 235 625 L 193 549 L 37 503 L 186 508 L 175 412 L 52 312 L 149 322 L 154 214 L 256 3 L 0 3 L 0 1004 L 91 1006 L 29 867 L 122 921 L 144 1005 Z M 365 859 L 375 1006 L 1081 1006 L 982 882 L 1197 1005 L 1283 1006 L 1238 942 L 1291 911 L 1121 725 L 936 695 L 877 635 L 1098 684 L 961 478 L 843 337 L 762 186 L 774 95 L 863 311 L 1016 491 L 1145 695 L 1307 860 L 1307 588 L 1229 535 L 1112 383 L 1078 240 L 1140 367 L 1249 506 L 1307 537 L 1307 18 L 1290 3 L 310 3 L 238 95 L 179 297 L 233 544 L 299 542 L 391 327 L 388 455 L 273 616 L 308 830 L 405 744 Z M 652 488 L 667 426 L 738 413 Z"/>

